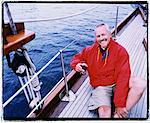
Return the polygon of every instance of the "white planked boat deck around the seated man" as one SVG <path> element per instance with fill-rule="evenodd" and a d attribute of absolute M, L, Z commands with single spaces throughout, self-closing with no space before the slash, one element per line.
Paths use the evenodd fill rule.
<path fill-rule="evenodd" d="M 117 42 L 124 46 L 130 55 L 132 75 L 140 76 L 147 80 L 147 53 L 142 44 L 147 32 L 143 27 L 143 20 L 138 15 L 120 34 Z M 77 98 L 70 102 L 59 115 L 60 118 L 93 118 L 97 117 L 96 112 L 88 110 L 88 100 L 92 87 L 87 78 L 79 90 L 76 92 Z M 132 108 L 129 113 L 131 118 L 147 117 L 147 92 L 145 91 L 140 101 Z"/>

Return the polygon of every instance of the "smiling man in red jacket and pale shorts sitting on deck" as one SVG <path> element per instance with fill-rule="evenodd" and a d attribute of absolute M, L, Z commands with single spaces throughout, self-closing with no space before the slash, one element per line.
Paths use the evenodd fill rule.
<path fill-rule="evenodd" d="M 146 88 L 146 82 L 140 78 L 130 78 L 129 55 L 125 48 L 112 39 L 108 25 L 98 25 L 95 37 L 92 46 L 84 48 L 73 57 L 71 67 L 77 72 L 84 72 L 83 67 L 88 70 L 93 87 L 89 110 L 98 109 L 101 118 L 111 117 L 111 97 L 114 91 L 114 117 L 127 117 L 128 111 Z"/>

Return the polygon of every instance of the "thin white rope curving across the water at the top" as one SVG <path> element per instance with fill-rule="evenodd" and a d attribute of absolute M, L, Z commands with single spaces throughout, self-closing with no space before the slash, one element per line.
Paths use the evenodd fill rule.
<path fill-rule="evenodd" d="M 30 22 L 40 22 L 40 21 L 56 21 L 56 20 L 61 20 L 61 19 L 66 19 L 66 18 L 71 18 L 71 17 L 74 17 L 74 16 L 78 16 L 78 15 L 81 15 L 81 14 L 84 14 L 90 10 L 93 10 L 95 8 L 97 8 L 98 5 L 94 6 L 94 7 L 91 7 L 90 9 L 87 9 L 85 11 L 82 11 L 80 13 L 76 13 L 76 14 L 72 14 L 72 15 L 69 15 L 69 16 L 64 16 L 64 17 L 58 17 L 58 18 L 47 18 L 47 19 L 28 19 L 28 20 L 16 20 L 15 22 L 24 22 L 24 23 L 30 23 Z M 7 22 L 6 22 L 7 23 Z"/>

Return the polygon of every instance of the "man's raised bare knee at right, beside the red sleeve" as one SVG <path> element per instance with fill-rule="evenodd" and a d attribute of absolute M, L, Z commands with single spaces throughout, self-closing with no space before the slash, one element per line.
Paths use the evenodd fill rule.
<path fill-rule="evenodd" d="M 134 89 L 139 93 L 143 93 L 143 91 L 147 87 L 147 82 L 146 82 L 146 80 L 144 80 L 140 77 L 132 77 L 130 79 L 129 86 L 130 86 L 130 89 Z"/>

